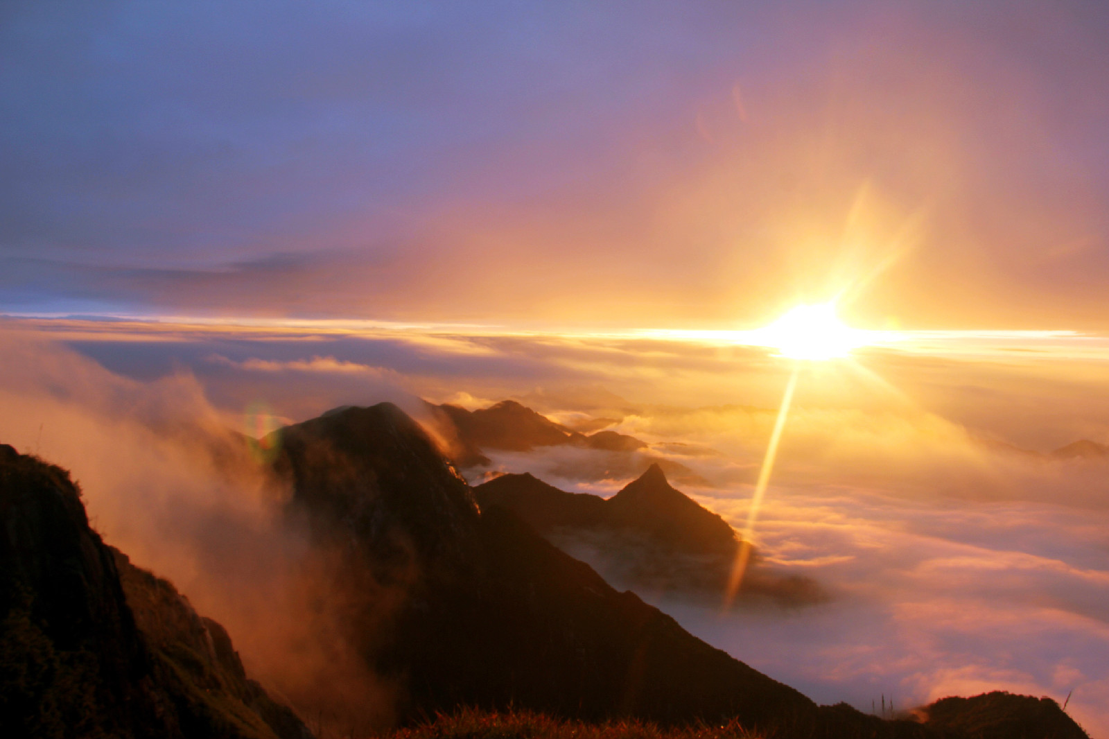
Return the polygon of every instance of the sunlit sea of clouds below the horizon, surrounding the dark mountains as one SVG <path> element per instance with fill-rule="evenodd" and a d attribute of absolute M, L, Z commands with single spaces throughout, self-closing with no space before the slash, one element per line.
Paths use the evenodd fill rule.
<path fill-rule="evenodd" d="M 265 539 L 266 504 L 251 493 L 257 488 L 250 476 L 228 488 L 214 470 L 196 467 L 195 451 L 181 447 L 187 435 L 170 433 L 180 424 L 214 434 L 242 429 L 252 403 L 299 421 L 384 399 L 415 413 L 417 395 L 470 407 L 516 396 L 563 422 L 609 419 L 608 428 L 641 438 L 650 454 L 703 477 L 709 486 L 674 484 L 742 526 L 773 423 L 775 382 L 783 377 L 779 360 L 733 350 L 683 358 L 662 347 L 629 366 L 612 347 L 520 338 L 471 350 L 466 342 L 418 337 L 376 346 L 318 336 L 105 337 L 8 334 L 2 441 L 71 468 L 109 543 L 171 577 L 202 613 L 222 617 L 248 662 L 250 635 L 236 634 L 236 614 L 221 611 L 216 587 L 243 573 L 203 565 L 216 553 L 205 554 L 202 533 Z M 1093 377 L 1092 371 L 1027 360 L 1011 366 L 896 354 L 858 361 L 875 372 L 892 366 L 889 376 L 913 379 L 918 372 L 948 407 L 963 408 L 967 418 L 995 408 L 991 423 L 1010 433 L 954 421 L 884 387 L 861 393 L 852 406 L 851 393 L 865 385 L 845 385 L 854 374 L 814 368 L 802 378 L 810 392 L 798 394 L 787 422 L 755 536 L 770 564 L 813 577 L 832 600 L 721 617 L 665 594 L 644 597 L 710 644 L 822 702 L 868 709 L 885 694 L 908 708 L 990 689 L 1061 700 L 1074 689 L 1068 710 L 1095 735 L 1109 728 L 1101 708 L 1109 691 L 1109 463 L 995 444 L 1039 439 L 1047 452 L 1079 434 L 1105 441 L 1096 397 L 1087 399 L 1086 387 L 1072 383 Z M 709 377 L 713 363 L 721 376 L 680 393 L 695 391 L 716 404 L 683 406 L 668 397 L 670 383 Z M 370 365 L 376 370 L 359 368 Z M 745 374 L 736 376 L 737 367 Z M 983 378 L 996 378 L 994 397 L 974 389 Z M 1049 387 L 1071 395 L 1054 393 L 1055 408 L 1016 425 L 1006 406 L 1026 404 L 1018 379 L 1032 394 Z M 820 383 L 831 387 L 822 392 Z M 1041 418 L 1050 433 L 1036 428 Z M 639 472 L 633 459 L 628 477 L 607 478 L 609 454 L 570 447 L 488 453 L 495 469 L 531 472 L 563 489 L 601 495 Z M 151 530 L 162 534 L 150 538 Z M 297 543 L 275 550 L 286 546 Z M 388 686 L 373 689 L 387 692 Z"/>

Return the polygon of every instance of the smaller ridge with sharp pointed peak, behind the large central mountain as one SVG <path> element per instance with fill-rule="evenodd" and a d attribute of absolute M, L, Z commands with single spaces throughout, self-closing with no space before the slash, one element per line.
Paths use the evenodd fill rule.
<path fill-rule="evenodd" d="M 566 493 L 530 474 L 502 475 L 475 488 L 482 510 L 506 507 L 551 543 L 588 561 L 607 579 L 644 595 L 672 594 L 720 601 L 740 538 L 719 515 L 671 487 L 652 465 L 609 499 Z M 802 606 L 827 599 L 808 577 L 759 566 L 741 596 Z"/>

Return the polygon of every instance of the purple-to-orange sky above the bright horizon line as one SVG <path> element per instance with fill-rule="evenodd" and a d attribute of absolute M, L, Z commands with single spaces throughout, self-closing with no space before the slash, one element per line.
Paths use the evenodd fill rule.
<path fill-rule="evenodd" d="M 1107 31 L 1093 3 L 8 2 L 0 311 L 728 325 L 888 262 L 863 322 L 1109 328 Z"/>

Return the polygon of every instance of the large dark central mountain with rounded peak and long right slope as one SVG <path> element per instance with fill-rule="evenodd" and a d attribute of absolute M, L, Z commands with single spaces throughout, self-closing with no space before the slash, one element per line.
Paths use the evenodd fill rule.
<path fill-rule="evenodd" d="M 407 588 L 387 618 L 367 597 L 349 619 L 367 661 L 405 676 L 401 716 L 458 705 L 664 722 L 816 716 L 800 692 L 618 593 L 510 509 L 479 514 L 396 406 L 344 409 L 282 435 L 275 467 L 292 483 L 291 512 L 343 547 L 349 579 Z"/>

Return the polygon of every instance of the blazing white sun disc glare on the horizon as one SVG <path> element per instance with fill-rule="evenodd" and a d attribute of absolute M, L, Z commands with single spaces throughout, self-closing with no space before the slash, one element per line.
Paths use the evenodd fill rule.
<path fill-rule="evenodd" d="M 852 328 L 840 321 L 834 303 L 798 305 L 781 318 L 752 332 L 757 343 L 773 346 L 793 360 L 832 360 L 874 343 L 875 332 Z"/>

